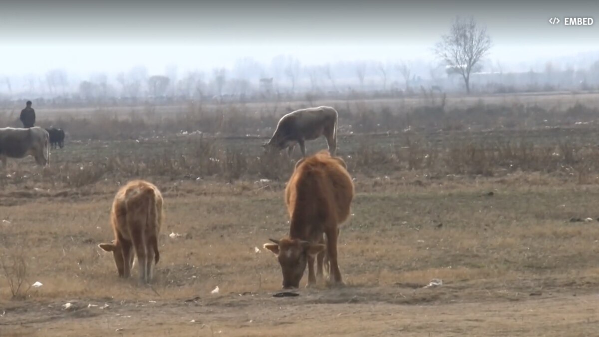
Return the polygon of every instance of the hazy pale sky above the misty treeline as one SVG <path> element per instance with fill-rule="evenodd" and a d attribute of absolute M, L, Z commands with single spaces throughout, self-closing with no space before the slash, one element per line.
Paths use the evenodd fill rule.
<path fill-rule="evenodd" d="M 550 25 L 556 16 L 599 19 L 599 1 L 2 1 L 0 74 L 75 73 L 146 65 L 164 73 L 231 67 L 279 54 L 302 64 L 432 59 L 456 15 L 473 14 L 503 62 L 599 50 L 599 22 Z"/>

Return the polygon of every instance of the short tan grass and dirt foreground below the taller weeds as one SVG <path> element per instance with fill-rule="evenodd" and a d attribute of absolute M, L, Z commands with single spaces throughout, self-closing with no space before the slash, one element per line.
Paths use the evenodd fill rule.
<path fill-rule="evenodd" d="M 599 327 L 599 225 L 570 222 L 599 216 L 595 185 L 357 176 L 341 228 L 346 286 L 279 298 L 279 266 L 261 245 L 287 230 L 282 183 L 153 180 L 167 203 L 152 288 L 118 279 L 96 247 L 111 239 L 114 182 L 88 194 L 2 194 L 4 261 L 21 254 L 25 287 L 43 284 L 13 300 L 3 279 L 2 336 L 590 336 Z M 433 278 L 443 285 L 425 288 Z"/>

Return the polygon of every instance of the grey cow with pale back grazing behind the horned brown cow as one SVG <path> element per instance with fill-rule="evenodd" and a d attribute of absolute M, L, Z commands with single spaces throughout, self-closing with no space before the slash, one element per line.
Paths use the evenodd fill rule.
<path fill-rule="evenodd" d="M 289 155 L 299 144 L 302 156 L 305 157 L 305 141 L 316 140 L 325 136 L 331 156 L 337 151 L 337 110 L 320 106 L 299 109 L 283 116 L 273 137 L 262 145 L 267 151 L 288 149 Z"/>

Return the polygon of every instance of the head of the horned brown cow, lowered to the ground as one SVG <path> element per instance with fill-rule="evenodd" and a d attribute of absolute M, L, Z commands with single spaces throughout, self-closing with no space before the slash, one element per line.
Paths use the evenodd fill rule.
<path fill-rule="evenodd" d="M 299 288 L 304 276 L 308 255 L 316 255 L 326 248 L 321 243 L 311 243 L 299 239 L 269 239 L 274 243 L 265 243 L 264 248 L 273 252 L 279 259 L 283 272 L 283 288 Z"/>

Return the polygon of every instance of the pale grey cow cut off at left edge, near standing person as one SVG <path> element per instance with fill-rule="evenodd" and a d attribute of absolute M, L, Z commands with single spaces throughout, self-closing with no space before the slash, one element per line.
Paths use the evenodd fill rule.
<path fill-rule="evenodd" d="M 0 160 L 7 166 L 7 158 L 25 158 L 32 155 L 35 163 L 48 166 L 50 162 L 50 135 L 40 127 L 28 129 L 0 128 Z"/>

